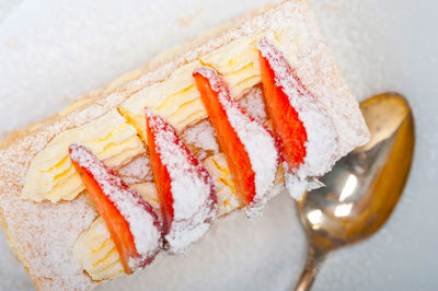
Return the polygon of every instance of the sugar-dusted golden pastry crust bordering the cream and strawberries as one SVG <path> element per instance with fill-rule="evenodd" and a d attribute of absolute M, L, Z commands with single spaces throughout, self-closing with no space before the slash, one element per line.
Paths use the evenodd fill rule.
<path fill-rule="evenodd" d="M 266 27 L 292 24 L 307 36 L 293 67 L 308 89 L 324 104 L 339 133 L 342 156 L 365 143 L 368 130 L 357 101 L 351 96 L 303 0 L 289 0 L 237 20 L 219 31 L 195 38 L 140 69 L 134 80 L 122 81 L 87 95 L 82 104 L 38 126 L 12 132 L 0 142 L 0 222 L 35 286 L 41 290 L 88 290 L 99 282 L 72 261 L 71 247 L 96 218 L 84 195 L 58 203 L 22 200 L 34 156 L 60 132 L 88 124 L 118 107 L 141 89 L 165 80 L 176 69 L 199 59 L 233 39 Z"/>

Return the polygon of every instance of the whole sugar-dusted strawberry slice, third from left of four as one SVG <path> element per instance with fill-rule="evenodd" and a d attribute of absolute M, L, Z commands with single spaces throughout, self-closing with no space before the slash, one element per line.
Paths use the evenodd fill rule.
<path fill-rule="evenodd" d="M 233 175 L 241 205 L 265 202 L 277 170 L 274 138 L 244 113 L 215 70 L 198 68 L 194 78 Z"/>

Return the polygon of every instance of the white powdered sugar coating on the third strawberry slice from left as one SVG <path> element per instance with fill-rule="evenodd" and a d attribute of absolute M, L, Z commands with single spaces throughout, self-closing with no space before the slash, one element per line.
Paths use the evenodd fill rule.
<path fill-rule="evenodd" d="M 246 210 L 251 210 L 254 206 L 263 206 L 269 198 L 268 194 L 274 186 L 278 166 L 278 153 L 273 136 L 263 125 L 247 116 L 235 101 L 231 100 L 223 80 L 215 70 L 201 67 L 196 69 L 195 73 L 209 80 L 211 89 L 218 93 L 219 102 L 250 158 L 255 173 L 256 194 L 253 203 Z M 246 213 L 253 214 L 251 211 Z"/>

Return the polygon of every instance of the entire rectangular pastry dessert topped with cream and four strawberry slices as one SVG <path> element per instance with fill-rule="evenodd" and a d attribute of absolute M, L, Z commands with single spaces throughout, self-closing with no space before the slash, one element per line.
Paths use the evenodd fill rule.
<path fill-rule="evenodd" d="M 0 217 L 41 290 L 95 288 L 215 221 L 300 199 L 368 129 L 303 0 L 267 7 L 0 143 Z"/>

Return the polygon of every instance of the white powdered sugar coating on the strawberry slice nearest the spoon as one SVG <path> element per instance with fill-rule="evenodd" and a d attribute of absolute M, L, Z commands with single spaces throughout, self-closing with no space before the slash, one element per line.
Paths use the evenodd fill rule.
<path fill-rule="evenodd" d="M 266 38 L 257 43 L 257 48 L 273 68 L 276 85 L 286 93 L 307 131 L 308 141 L 304 144 L 307 152 L 303 163 L 298 168 L 285 171 L 296 175 L 288 177 L 286 174 L 288 182 L 286 186 L 290 195 L 297 198 L 306 189 L 309 177 L 322 176 L 332 168 L 336 158 L 338 135 L 331 117 L 301 84 L 281 51 Z"/>

